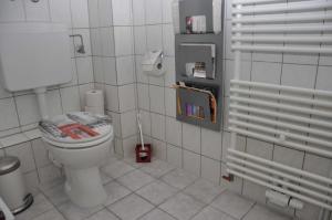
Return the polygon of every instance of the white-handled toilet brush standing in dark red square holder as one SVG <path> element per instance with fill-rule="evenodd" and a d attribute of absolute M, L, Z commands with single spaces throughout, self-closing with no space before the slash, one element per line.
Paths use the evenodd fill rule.
<path fill-rule="evenodd" d="M 151 144 L 144 144 L 141 114 L 137 114 L 137 125 L 139 130 L 141 145 L 136 145 L 136 161 L 137 163 L 151 163 L 152 146 Z"/>

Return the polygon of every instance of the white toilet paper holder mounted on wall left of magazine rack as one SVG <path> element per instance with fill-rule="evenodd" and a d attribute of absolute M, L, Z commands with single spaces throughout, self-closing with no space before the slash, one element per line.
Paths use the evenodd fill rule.
<path fill-rule="evenodd" d="M 164 52 L 162 50 L 147 52 L 142 61 L 143 73 L 149 76 L 162 76 L 165 74 Z"/>

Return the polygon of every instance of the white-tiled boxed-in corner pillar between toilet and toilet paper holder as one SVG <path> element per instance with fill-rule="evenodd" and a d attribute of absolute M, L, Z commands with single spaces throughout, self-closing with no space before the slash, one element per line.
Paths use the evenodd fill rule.
<path fill-rule="evenodd" d="M 137 137 L 132 1 L 89 0 L 89 9 L 95 87 L 105 93 L 115 151 L 127 156 Z"/>

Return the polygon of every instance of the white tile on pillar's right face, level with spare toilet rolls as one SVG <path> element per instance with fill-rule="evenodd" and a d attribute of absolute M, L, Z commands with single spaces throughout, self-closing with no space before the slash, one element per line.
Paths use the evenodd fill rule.
<path fill-rule="evenodd" d="M 120 112 L 135 109 L 135 94 L 134 84 L 118 86 Z"/>

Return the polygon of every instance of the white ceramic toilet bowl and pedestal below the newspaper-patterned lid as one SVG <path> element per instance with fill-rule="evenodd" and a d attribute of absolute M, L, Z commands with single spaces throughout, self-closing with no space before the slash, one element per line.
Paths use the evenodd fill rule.
<path fill-rule="evenodd" d="M 103 187 L 100 166 L 110 157 L 113 126 L 105 125 L 102 135 L 87 140 L 63 142 L 43 137 L 48 149 L 65 170 L 65 192 L 80 207 L 95 207 L 107 199 Z"/>

